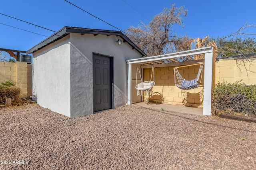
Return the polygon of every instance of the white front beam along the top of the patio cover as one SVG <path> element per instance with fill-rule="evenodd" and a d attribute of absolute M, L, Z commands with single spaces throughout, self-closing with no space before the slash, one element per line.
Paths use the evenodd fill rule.
<path fill-rule="evenodd" d="M 190 56 L 190 55 L 212 53 L 212 51 L 213 51 L 213 47 L 209 46 L 209 47 L 202 47 L 199 49 L 192 49 L 192 50 L 188 50 L 188 51 L 180 51 L 180 52 L 176 52 L 176 53 L 156 55 L 156 56 L 152 56 L 152 57 L 130 59 L 130 60 L 126 60 L 126 63 L 134 64 L 134 63 L 142 63 L 142 62 L 155 61 L 155 60 L 164 60 L 164 59 L 171 59 L 171 58 L 176 58 L 176 57 L 184 57 L 184 56 Z"/>

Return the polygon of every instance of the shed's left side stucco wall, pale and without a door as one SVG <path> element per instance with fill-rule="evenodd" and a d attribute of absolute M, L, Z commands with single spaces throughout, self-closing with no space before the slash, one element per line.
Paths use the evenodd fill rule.
<path fill-rule="evenodd" d="M 42 107 L 70 117 L 68 36 L 34 53 L 33 99 Z"/>

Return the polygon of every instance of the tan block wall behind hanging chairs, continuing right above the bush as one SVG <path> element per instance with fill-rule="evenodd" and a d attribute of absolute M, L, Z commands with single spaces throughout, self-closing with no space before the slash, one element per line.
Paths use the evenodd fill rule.
<path fill-rule="evenodd" d="M 174 66 L 158 67 L 154 69 L 155 86 L 153 87 L 154 96 L 150 98 L 152 102 L 165 104 L 202 104 L 203 87 L 193 90 L 180 90 L 174 85 Z M 196 77 L 198 66 L 188 66 L 179 68 L 179 72 L 183 78 L 192 80 Z M 256 58 L 246 60 L 220 59 L 215 65 L 215 83 L 236 81 L 245 84 L 256 84 Z M 247 69 L 247 71 L 246 71 Z M 144 68 L 143 81 L 150 80 L 152 68 Z M 202 77 L 202 85 L 204 85 L 204 73 Z M 185 98 L 184 98 L 185 97 Z M 144 96 L 144 101 L 148 101 L 148 96 Z M 194 105 L 196 106 L 196 105 Z"/>

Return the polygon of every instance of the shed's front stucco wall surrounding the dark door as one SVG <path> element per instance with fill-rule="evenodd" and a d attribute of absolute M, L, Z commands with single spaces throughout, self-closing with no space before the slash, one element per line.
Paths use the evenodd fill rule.
<path fill-rule="evenodd" d="M 126 104 L 128 75 L 126 60 L 140 58 L 141 55 L 126 43 L 117 45 L 117 39 L 120 37 L 115 35 L 107 37 L 106 35 L 70 34 L 71 101 L 74 102 L 71 104 L 72 117 L 93 113 L 92 57 L 94 53 L 113 58 L 112 105 L 115 108 Z M 136 91 L 133 93 L 135 94 Z"/>

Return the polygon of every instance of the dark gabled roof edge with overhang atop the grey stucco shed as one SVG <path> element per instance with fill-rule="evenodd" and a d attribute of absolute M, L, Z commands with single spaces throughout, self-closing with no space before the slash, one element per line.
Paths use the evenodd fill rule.
<path fill-rule="evenodd" d="M 146 56 L 146 54 L 134 43 L 132 40 L 130 40 L 124 33 L 121 31 L 110 31 L 110 30 L 104 30 L 104 29 L 88 29 L 88 28 L 81 28 L 81 27 L 68 27 L 65 26 L 50 37 L 46 38 L 45 40 L 41 41 L 28 51 L 26 51 L 27 54 L 34 53 L 47 45 L 54 43 L 55 41 L 58 41 L 59 39 L 62 39 L 63 37 L 69 35 L 70 33 L 80 33 L 81 35 L 84 34 L 103 34 L 103 35 L 116 35 L 123 39 L 124 43 L 128 43 L 132 49 L 135 49 L 138 51 L 142 56 Z"/>

